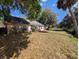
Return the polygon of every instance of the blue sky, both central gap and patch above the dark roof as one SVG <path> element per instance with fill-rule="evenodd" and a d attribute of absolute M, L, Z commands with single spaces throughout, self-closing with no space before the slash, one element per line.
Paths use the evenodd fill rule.
<path fill-rule="evenodd" d="M 63 18 L 68 14 L 68 10 L 63 11 L 62 9 L 58 9 L 56 7 L 56 2 L 58 0 L 41 0 L 40 1 L 40 5 L 42 7 L 42 10 L 45 10 L 46 8 L 51 9 L 54 13 L 56 13 L 57 15 L 57 22 L 60 23 Z M 21 18 L 25 18 L 26 16 L 21 14 L 21 12 L 19 12 L 18 10 L 12 10 L 11 14 L 13 16 L 17 16 L 17 17 L 21 17 Z"/>

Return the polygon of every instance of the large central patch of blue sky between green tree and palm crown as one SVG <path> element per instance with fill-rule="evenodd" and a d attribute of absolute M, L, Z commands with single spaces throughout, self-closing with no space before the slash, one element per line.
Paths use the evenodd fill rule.
<path fill-rule="evenodd" d="M 67 11 L 63 11 L 62 9 L 58 9 L 56 6 L 58 0 L 41 0 L 40 5 L 42 9 L 46 8 L 51 9 L 57 15 L 58 23 L 63 20 L 63 18 L 67 15 Z"/>

